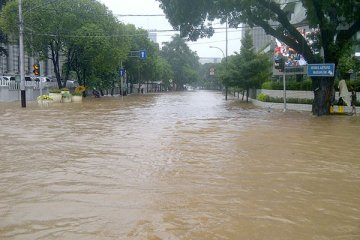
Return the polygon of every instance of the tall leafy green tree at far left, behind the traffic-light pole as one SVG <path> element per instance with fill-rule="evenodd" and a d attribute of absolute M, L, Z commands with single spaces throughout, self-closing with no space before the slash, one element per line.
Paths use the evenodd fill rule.
<path fill-rule="evenodd" d="M 71 46 L 79 29 L 91 23 L 106 27 L 115 19 L 104 5 L 92 0 L 25 0 L 23 6 L 26 50 L 39 59 L 51 59 L 59 87 L 66 84 L 61 81 L 60 57 L 64 53 L 72 56 Z M 33 6 L 38 6 L 36 11 Z M 18 35 L 17 12 L 17 2 L 10 1 L 1 16 L 1 26 L 14 38 Z"/>

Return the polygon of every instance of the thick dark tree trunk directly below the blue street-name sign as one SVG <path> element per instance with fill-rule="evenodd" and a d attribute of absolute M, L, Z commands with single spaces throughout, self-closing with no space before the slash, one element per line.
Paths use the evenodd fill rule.
<path fill-rule="evenodd" d="M 314 103 L 312 113 L 317 116 L 329 115 L 334 93 L 334 78 L 312 77 Z"/>

